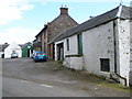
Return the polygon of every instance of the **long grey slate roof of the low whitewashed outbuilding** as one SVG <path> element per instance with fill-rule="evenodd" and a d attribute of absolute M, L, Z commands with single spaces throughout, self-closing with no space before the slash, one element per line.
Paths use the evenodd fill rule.
<path fill-rule="evenodd" d="M 131 14 L 130 14 L 131 13 Z M 119 16 L 118 16 L 119 14 Z M 130 7 L 125 7 L 125 6 L 119 6 L 117 8 L 114 8 L 113 10 L 110 10 L 103 14 L 100 14 L 98 16 L 95 16 L 77 26 L 74 26 L 69 30 L 67 30 L 66 32 L 63 32 L 61 35 L 58 35 L 57 37 L 55 37 L 52 42 L 50 43 L 54 43 L 57 41 L 61 41 L 63 38 L 69 37 L 72 35 L 81 33 L 86 30 L 96 28 L 98 25 L 105 24 L 111 20 L 114 20 L 117 18 L 120 19 L 132 19 L 132 8 Z"/>

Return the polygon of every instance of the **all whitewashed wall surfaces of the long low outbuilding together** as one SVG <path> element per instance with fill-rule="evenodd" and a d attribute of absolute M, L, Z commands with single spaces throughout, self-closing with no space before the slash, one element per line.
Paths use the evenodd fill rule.
<path fill-rule="evenodd" d="M 82 32 L 82 63 L 86 70 L 97 75 L 110 76 L 110 73 L 114 73 L 114 36 L 117 42 L 117 70 L 121 77 L 127 78 L 129 84 L 130 72 L 130 58 L 132 59 L 132 51 L 130 54 L 130 21 L 116 20 L 116 26 L 113 28 L 113 21 L 99 25 L 95 29 Z M 113 32 L 114 29 L 114 32 Z M 67 51 L 66 38 L 57 42 L 64 43 L 64 56 L 78 54 L 77 35 L 70 36 L 69 51 Z M 132 38 L 132 36 L 131 36 Z M 132 44 L 132 43 L 131 43 Z M 131 46 L 132 47 L 132 46 Z M 110 72 L 101 72 L 100 58 L 110 59 Z M 72 62 L 73 59 L 73 62 Z M 77 59 L 65 58 L 65 65 L 75 65 Z M 75 63 L 75 64 L 72 64 Z M 132 69 L 132 66 L 131 66 Z"/>

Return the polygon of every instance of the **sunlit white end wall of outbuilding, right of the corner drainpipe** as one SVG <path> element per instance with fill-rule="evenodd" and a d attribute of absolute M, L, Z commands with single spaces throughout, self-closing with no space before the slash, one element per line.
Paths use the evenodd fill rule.
<path fill-rule="evenodd" d="M 119 30 L 119 65 L 120 76 L 127 78 L 129 85 L 130 72 L 130 21 L 118 20 Z"/>

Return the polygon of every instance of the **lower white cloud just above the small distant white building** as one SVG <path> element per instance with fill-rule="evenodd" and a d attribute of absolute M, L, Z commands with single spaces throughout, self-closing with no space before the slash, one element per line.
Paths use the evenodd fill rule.
<path fill-rule="evenodd" d="M 19 44 L 32 42 L 36 33 L 36 30 L 29 30 L 24 28 L 6 29 L 0 34 L 0 44 L 3 44 L 6 42 L 11 43 L 13 41 Z"/>

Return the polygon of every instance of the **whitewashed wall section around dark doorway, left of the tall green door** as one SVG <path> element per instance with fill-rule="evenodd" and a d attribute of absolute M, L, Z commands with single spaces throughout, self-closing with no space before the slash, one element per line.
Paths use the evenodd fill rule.
<path fill-rule="evenodd" d="M 68 68 L 82 69 L 84 63 L 82 57 L 65 57 L 66 55 L 77 55 L 78 44 L 77 35 L 68 37 L 69 40 L 69 51 L 67 51 L 67 38 L 55 43 L 55 61 L 57 61 L 57 44 L 64 43 L 64 65 Z"/>

